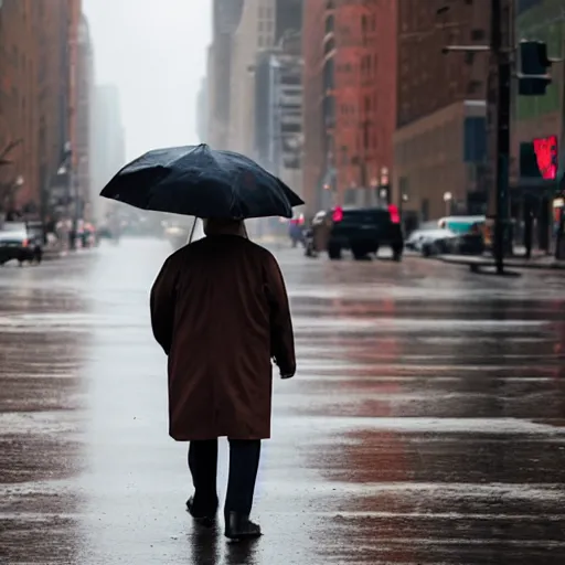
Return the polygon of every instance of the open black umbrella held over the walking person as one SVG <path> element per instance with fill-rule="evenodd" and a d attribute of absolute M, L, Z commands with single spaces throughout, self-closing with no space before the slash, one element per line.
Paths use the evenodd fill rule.
<path fill-rule="evenodd" d="M 292 217 L 303 204 L 252 159 L 206 145 L 157 149 L 121 169 L 102 196 L 198 217 Z"/>

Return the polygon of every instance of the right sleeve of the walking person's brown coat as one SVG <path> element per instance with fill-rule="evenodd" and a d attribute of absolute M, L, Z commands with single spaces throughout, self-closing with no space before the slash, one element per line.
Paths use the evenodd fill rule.
<path fill-rule="evenodd" d="M 266 268 L 266 289 L 270 309 L 270 353 L 282 376 L 296 373 L 295 337 L 287 290 L 277 260 L 271 255 Z"/>

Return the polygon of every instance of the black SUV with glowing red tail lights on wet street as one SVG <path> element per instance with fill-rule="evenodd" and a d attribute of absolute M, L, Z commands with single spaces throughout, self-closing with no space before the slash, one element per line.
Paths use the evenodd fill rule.
<path fill-rule="evenodd" d="M 306 254 L 327 250 L 330 259 L 340 259 L 350 249 L 355 259 L 391 247 L 394 260 L 401 260 L 404 237 L 398 214 L 386 207 L 335 207 L 316 214 L 307 234 Z"/>

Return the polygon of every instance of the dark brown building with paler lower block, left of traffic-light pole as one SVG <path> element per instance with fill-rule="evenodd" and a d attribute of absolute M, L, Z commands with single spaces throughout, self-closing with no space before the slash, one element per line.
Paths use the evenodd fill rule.
<path fill-rule="evenodd" d="M 483 2 L 398 0 L 393 190 L 414 222 L 486 204 L 488 54 L 441 50 L 488 44 L 489 26 Z"/>

